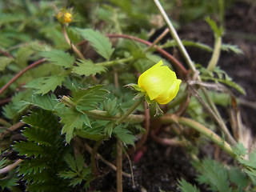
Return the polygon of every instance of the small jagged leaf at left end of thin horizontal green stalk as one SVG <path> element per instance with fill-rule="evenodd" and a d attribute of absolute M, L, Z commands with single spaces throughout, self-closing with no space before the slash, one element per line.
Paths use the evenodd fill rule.
<path fill-rule="evenodd" d="M 80 75 L 89 76 L 90 74 L 100 74 L 106 71 L 106 67 L 104 66 L 96 66 L 90 60 L 81 60 L 78 59 L 78 62 L 75 62 L 78 66 L 74 66 L 72 72 Z"/>

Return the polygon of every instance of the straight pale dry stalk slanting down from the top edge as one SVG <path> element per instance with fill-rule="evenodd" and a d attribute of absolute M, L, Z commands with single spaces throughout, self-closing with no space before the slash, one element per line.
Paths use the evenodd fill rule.
<path fill-rule="evenodd" d="M 165 19 L 167 26 L 170 29 L 170 34 L 174 38 L 174 40 L 177 42 L 178 49 L 181 51 L 183 57 L 186 60 L 186 63 L 190 67 L 190 70 L 195 72 L 196 68 L 194 66 L 194 62 L 192 62 L 190 55 L 187 53 L 185 47 L 183 46 L 181 39 L 178 37 L 178 34 L 177 34 L 176 30 L 174 29 L 173 24 L 170 22 L 170 19 L 168 18 L 166 11 L 162 8 L 162 5 L 160 4 L 160 2 L 158 0 L 154 0 L 154 3 L 156 4 L 156 6 L 158 6 L 158 10 L 160 10 L 162 17 Z"/>

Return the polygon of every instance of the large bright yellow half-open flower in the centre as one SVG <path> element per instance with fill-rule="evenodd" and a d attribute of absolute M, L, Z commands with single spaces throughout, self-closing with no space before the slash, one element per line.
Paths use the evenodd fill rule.
<path fill-rule="evenodd" d="M 166 104 L 173 100 L 178 93 L 182 80 L 176 78 L 174 71 L 168 66 L 162 66 L 162 60 L 146 70 L 138 78 L 138 86 L 159 104 Z"/>

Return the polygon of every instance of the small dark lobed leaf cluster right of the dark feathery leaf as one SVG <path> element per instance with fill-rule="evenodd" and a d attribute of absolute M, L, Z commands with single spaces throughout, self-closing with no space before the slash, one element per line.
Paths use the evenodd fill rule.
<path fill-rule="evenodd" d="M 61 178 L 68 179 L 70 186 L 76 186 L 85 182 L 84 188 L 90 186 L 90 181 L 93 179 L 91 168 L 89 166 L 84 167 L 85 160 L 82 155 L 78 155 L 75 159 L 67 154 L 65 156 L 66 164 L 69 166 L 69 170 L 65 170 L 59 173 Z"/>

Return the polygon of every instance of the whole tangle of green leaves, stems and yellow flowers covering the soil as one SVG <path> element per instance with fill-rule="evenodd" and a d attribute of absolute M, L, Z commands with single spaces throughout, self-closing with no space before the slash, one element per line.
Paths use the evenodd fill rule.
<path fill-rule="evenodd" d="M 235 130 L 217 107 L 238 109 L 234 91 L 246 94 L 218 66 L 221 51 L 242 54 L 222 42 L 225 1 L 218 22 L 206 18 L 213 48 L 179 38 L 165 11 L 174 2 L 0 2 L 2 191 L 106 191 L 101 179 L 110 172 L 114 191 L 145 191 L 132 164 L 148 142 L 186 150 L 196 173 L 193 181 L 176 178 L 177 191 L 256 190 L 255 140 L 238 110 Z M 162 42 L 166 34 L 173 40 Z M 209 51 L 208 66 L 195 64 L 185 46 Z M 161 138 L 164 128 L 171 134 Z M 202 158 L 206 143 L 230 162 Z"/>

